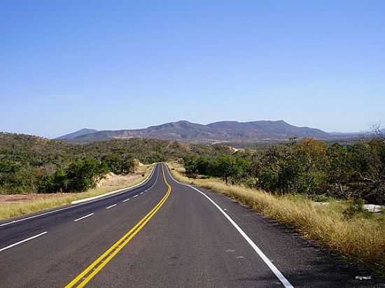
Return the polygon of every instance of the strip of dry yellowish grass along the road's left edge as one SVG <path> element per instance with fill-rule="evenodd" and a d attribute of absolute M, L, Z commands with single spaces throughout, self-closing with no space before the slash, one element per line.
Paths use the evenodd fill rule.
<path fill-rule="evenodd" d="M 123 189 L 126 187 L 132 187 L 137 185 L 139 182 L 143 181 L 150 175 L 153 170 L 153 165 L 143 165 L 139 166 L 137 173 L 145 174 L 144 177 L 138 177 L 133 179 L 130 182 L 125 183 L 125 185 L 121 186 L 113 186 L 113 187 L 97 187 L 93 189 L 89 189 L 86 192 L 80 193 L 71 193 L 65 194 L 57 194 L 57 196 L 52 196 L 48 199 L 33 199 L 31 201 L 22 201 L 16 203 L 1 203 L 0 205 L 0 219 L 8 219 L 12 217 L 18 217 L 29 213 L 35 213 L 41 210 L 57 208 L 59 206 L 69 205 L 72 201 L 85 199 L 92 196 L 97 196 L 100 194 L 112 192 L 118 189 Z"/>

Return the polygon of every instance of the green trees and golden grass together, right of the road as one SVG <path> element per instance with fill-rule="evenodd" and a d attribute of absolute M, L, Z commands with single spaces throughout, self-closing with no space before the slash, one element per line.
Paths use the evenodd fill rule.
<path fill-rule="evenodd" d="M 385 276 L 385 143 L 313 139 L 170 164 L 180 181 L 228 195 Z"/>

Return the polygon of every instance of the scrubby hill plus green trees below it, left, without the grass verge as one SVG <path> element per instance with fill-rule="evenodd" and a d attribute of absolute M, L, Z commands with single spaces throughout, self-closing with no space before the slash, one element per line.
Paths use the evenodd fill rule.
<path fill-rule="evenodd" d="M 225 146 L 133 138 L 87 145 L 0 133 L 0 194 L 80 192 L 108 172 L 133 173 L 137 160 L 152 164 L 186 155 L 217 156 Z"/>

